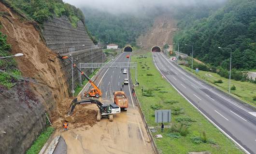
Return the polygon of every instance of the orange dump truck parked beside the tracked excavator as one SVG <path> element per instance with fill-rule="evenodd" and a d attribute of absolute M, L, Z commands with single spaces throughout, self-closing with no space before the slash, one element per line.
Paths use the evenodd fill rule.
<path fill-rule="evenodd" d="M 114 103 L 118 105 L 121 109 L 127 110 L 128 108 L 128 99 L 124 91 L 115 91 L 114 92 Z"/>

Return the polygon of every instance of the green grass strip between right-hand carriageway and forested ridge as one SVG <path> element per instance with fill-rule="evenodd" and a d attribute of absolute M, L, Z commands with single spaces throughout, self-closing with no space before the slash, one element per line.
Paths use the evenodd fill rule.
<path fill-rule="evenodd" d="M 191 72 L 191 68 L 188 68 L 186 66 L 182 66 L 186 71 Z M 217 86 L 219 89 L 224 90 L 228 92 L 228 85 L 229 80 L 225 77 L 220 77 L 216 73 L 207 72 L 207 71 L 200 71 L 199 73 L 194 73 L 197 77 L 203 79 L 204 81 L 208 82 L 209 84 Z M 222 80 L 223 83 L 214 83 L 214 81 Z M 233 96 L 240 98 L 241 100 L 256 106 L 256 101 L 253 100 L 253 97 L 256 96 L 256 84 L 251 83 L 248 81 L 236 81 L 231 79 L 231 84 L 236 87 L 236 90 L 230 90 L 230 93 L 233 94 Z"/>

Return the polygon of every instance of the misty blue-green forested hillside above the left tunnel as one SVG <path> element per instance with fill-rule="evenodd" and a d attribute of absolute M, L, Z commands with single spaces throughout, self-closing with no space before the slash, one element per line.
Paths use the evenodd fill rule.
<path fill-rule="evenodd" d="M 151 17 L 131 14 L 112 14 L 96 9 L 83 8 L 85 23 L 93 36 L 101 42 L 116 43 L 119 47 L 134 44 L 136 38 L 153 25 Z"/>

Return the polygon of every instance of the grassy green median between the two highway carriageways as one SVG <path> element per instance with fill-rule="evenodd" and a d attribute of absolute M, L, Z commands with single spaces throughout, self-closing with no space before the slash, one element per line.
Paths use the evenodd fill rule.
<path fill-rule="evenodd" d="M 147 58 L 139 58 L 140 55 Z M 137 97 L 142 106 L 142 112 L 149 126 L 156 127 L 155 111 L 153 108 L 171 109 L 176 115 L 171 116 L 171 125 L 178 124 L 177 118 L 189 117 L 193 122 L 186 122 L 188 134 L 180 136 L 180 133 L 171 133 L 170 128 L 165 128 L 164 132 L 156 127 L 155 134 L 162 134 L 163 138 L 156 139 L 156 145 L 161 154 L 187 154 L 188 152 L 209 151 L 211 154 L 243 154 L 243 152 L 217 128 L 213 126 L 204 116 L 202 116 L 190 103 L 174 90 L 171 85 L 161 77 L 153 64 L 151 53 L 133 52 L 131 62 L 137 62 L 138 81 L 140 87 L 135 87 Z M 135 70 L 131 69 L 132 80 L 135 81 Z M 152 97 L 142 95 L 141 87 L 144 91 L 152 89 Z M 155 90 L 154 90 L 155 89 Z M 175 102 L 176 101 L 176 102 Z M 165 103 L 166 102 L 166 103 Z M 179 109 L 182 112 L 179 114 Z M 174 112 L 176 110 L 176 112 Z M 170 125 L 170 124 L 165 124 Z M 203 136 L 206 132 L 207 138 L 212 143 L 194 143 L 192 138 Z M 177 135 L 178 134 L 178 135 Z"/>

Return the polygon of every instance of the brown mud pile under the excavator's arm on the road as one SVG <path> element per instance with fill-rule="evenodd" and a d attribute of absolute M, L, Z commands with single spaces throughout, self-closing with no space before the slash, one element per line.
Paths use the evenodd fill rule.
<path fill-rule="evenodd" d="M 72 116 L 67 116 L 72 99 L 64 99 L 58 104 L 57 110 L 53 112 L 51 119 L 55 128 L 61 128 L 65 120 L 69 128 L 87 128 L 96 124 L 98 107 L 95 104 L 76 105 Z"/>

